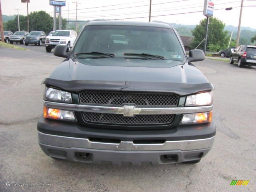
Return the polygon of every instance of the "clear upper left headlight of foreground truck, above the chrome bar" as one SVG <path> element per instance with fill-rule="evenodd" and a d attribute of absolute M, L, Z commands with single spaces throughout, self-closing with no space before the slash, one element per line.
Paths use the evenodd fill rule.
<path fill-rule="evenodd" d="M 45 87 L 44 100 L 72 103 L 72 97 L 70 92 L 61 91 L 51 87 Z"/>

